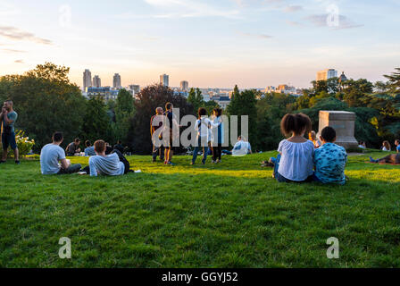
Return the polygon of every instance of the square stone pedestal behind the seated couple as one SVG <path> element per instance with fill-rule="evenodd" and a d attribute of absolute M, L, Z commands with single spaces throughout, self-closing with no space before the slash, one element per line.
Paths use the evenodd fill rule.
<path fill-rule="evenodd" d="M 355 114 L 346 111 L 320 111 L 320 129 L 330 126 L 336 130 L 336 144 L 345 147 L 357 147 L 358 142 L 354 138 Z"/>

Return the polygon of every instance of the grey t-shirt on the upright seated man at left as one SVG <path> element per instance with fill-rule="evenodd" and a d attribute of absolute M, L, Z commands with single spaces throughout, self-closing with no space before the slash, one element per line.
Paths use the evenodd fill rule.
<path fill-rule="evenodd" d="M 65 152 L 62 147 L 55 144 L 47 144 L 40 152 L 42 174 L 49 175 L 59 172 L 61 165 L 58 162 L 63 159 L 65 159 Z"/>

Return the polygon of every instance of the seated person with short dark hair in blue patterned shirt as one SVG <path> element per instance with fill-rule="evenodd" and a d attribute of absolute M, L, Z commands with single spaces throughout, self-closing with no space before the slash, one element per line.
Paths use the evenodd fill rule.
<path fill-rule="evenodd" d="M 322 146 L 315 149 L 313 156 L 314 181 L 344 185 L 346 183 L 346 149 L 334 143 L 336 130 L 332 127 L 328 126 L 321 130 L 320 139 Z"/>

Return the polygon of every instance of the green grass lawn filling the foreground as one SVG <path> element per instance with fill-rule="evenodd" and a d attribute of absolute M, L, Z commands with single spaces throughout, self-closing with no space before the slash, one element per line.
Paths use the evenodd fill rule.
<path fill-rule="evenodd" d="M 260 167 L 275 154 L 195 166 L 188 156 L 176 166 L 131 156 L 142 173 L 98 178 L 9 161 L 0 165 L 0 266 L 400 266 L 400 166 L 350 156 L 346 186 L 285 184 Z M 62 237 L 71 259 L 58 257 Z M 329 237 L 339 259 L 326 256 Z"/>

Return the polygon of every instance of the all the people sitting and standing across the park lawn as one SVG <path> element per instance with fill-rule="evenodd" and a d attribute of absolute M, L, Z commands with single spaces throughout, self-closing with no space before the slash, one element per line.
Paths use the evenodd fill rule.
<path fill-rule="evenodd" d="M 165 112 L 162 107 L 157 107 L 155 115 L 150 121 L 150 133 L 160 128 L 169 134 L 169 139 L 164 140 L 162 146 L 153 145 L 153 162 L 156 162 L 157 156 L 164 164 L 173 165 L 171 162 L 173 156 L 173 128 L 179 129 L 175 114 L 172 113 L 173 105 L 167 103 Z M 157 115 L 164 115 L 163 122 L 154 124 L 154 118 Z M 251 154 L 250 143 L 243 136 L 239 136 L 237 143 L 231 151 L 222 150 L 224 143 L 224 123 L 222 120 L 221 108 L 215 108 L 210 118 L 207 117 L 207 111 L 201 107 L 198 110 L 198 118 L 195 123 L 196 141 L 194 145 L 193 156 L 190 164 L 196 164 L 196 158 L 199 151 L 203 150 L 201 163 L 205 164 L 207 156 L 212 155 L 212 164 L 221 163 L 221 156 L 229 154 L 233 156 L 244 156 Z M 15 163 L 20 164 L 19 151 L 15 140 L 14 123 L 18 114 L 13 110 L 11 100 L 4 102 L 0 120 L 2 122 L 2 144 L 3 156 L 1 163 L 7 159 L 8 147 L 11 147 L 14 153 Z M 325 127 L 321 130 L 321 136 L 317 138 L 315 131 L 311 130 L 312 122 L 306 114 L 286 114 L 280 123 L 280 129 L 287 139 L 279 143 L 279 155 L 272 157 L 263 165 L 270 165 L 274 168 L 273 177 L 279 182 L 305 182 L 319 181 L 322 183 L 344 184 L 346 182 L 345 167 L 347 162 L 346 149 L 335 144 L 336 130 L 332 127 Z M 160 132 L 159 139 L 162 139 Z M 308 134 L 309 139 L 304 135 Z M 166 142 L 165 142 L 166 141 Z M 96 140 L 91 145 L 89 140 L 85 141 L 85 149 L 80 149 L 80 139 L 74 139 L 68 144 L 65 150 L 60 147 L 63 143 L 63 133 L 55 132 L 52 137 L 52 143 L 47 144 L 40 152 L 40 167 L 43 174 L 70 174 L 79 172 L 79 174 L 97 175 L 123 175 L 130 170 L 129 161 L 123 155 L 124 147 L 121 141 L 111 147 L 110 144 L 102 139 Z M 154 143 L 154 142 L 153 142 Z M 400 164 L 400 140 L 396 139 L 396 154 L 389 154 L 380 159 L 370 157 L 371 163 L 378 164 Z M 360 147 L 366 147 L 364 142 L 360 142 Z M 390 143 L 386 140 L 382 143 L 381 150 L 391 151 Z M 80 164 L 71 164 L 66 156 L 89 156 L 88 165 L 84 168 Z"/>

